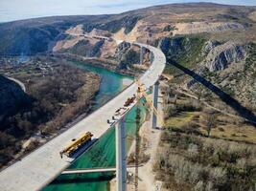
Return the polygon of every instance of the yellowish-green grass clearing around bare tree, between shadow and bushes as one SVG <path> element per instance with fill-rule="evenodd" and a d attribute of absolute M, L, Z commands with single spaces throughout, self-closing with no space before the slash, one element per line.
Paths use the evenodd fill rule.
<path fill-rule="evenodd" d="M 207 131 L 202 124 L 206 106 L 199 106 L 198 103 L 201 111 L 191 111 L 190 105 L 193 105 L 191 98 L 180 95 L 177 96 L 175 104 L 167 103 L 165 107 L 169 109 L 165 112 L 169 115 L 166 115 L 166 127 L 181 131 L 190 129 L 192 132 L 207 136 Z M 224 116 L 219 112 L 216 112 L 216 117 L 215 128 L 210 132 L 211 137 L 256 144 L 256 128 L 253 125 L 234 117 Z"/>

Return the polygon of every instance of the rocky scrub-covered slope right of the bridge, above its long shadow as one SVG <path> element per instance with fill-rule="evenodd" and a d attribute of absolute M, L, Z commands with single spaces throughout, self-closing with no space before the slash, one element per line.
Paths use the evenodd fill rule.
<path fill-rule="evenodd" d="M 256 112 L 254 43 L 234 40 L 221 42 L 209 35 L 188 34 L 163 38 L 159 41 L 159 48 L 168 58 L 166 73 L 180 75 L 176 80 L 184 88 L 209 98 L 212 94 L 207 88 L 217 86 L 220 90 L 214 88 L 219 92 L 215 94 L 225 93 Z M 184 70 L 191 76 L 181 75 Z M 198 82 L 202 80 L 208 80 L 205 82 L 206 88 Z"/>

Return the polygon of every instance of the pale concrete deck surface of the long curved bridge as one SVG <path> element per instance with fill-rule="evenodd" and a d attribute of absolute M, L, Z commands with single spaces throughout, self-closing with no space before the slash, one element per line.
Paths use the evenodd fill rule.
<path fill-rule="evenodd" d="M 140 77 L 140 81 L 146 88 L 153 85 L 162 74 L 166 57 L 159 49 L 141 43 L 133 43 L 145 47 L 153 53 L 154 60 L 150 69 Z M 73 127 L 48 141 L 33 153 L 21 159 L 10 167 L 0 172 L 1 191 L 34 191 L 40 190 L 67 168 L 73 159 L 60 159 L 59 152 L 69 144 L 72 138 L 79 138 L 82 133 L 90 131 L 94 138 L 100 138 L 109 128 L 107 119 L 115 114 L 115 111 L 123 107 L 128 97 L 136 93 L 137 85 L 133 83 L 124 92 L 115 96 L 104 106 L 96 110 L 88 117 L 83 118 Z M 132 105 L 134 106 L 134 105 Z M 132 107 L 130 106 L 130 107 Z"/>

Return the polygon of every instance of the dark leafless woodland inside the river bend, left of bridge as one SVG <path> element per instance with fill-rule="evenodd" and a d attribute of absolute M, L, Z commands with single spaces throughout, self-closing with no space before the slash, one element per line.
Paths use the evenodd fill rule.
<path fill-rule="evenodd" d="M 74 117 L 90 110 L 90 99 L 99 88 L 98 75 L 67 65 L 52 67 L 45 73 L 42 67 L 25 64 L 19 67 L 23 72 L 15 73 L 15 77 L 28 82 L 27 94 L 33 101 L 1 120 L 0 167 L 21 151 L 22 140 L 38 132 L 42 137 L 53 135 Z M 29 145 L 25 151 L 34 146 Z"/>

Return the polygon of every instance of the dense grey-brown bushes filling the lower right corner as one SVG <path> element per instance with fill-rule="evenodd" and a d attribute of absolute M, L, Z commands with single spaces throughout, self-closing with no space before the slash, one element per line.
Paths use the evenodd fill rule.
<path fill-rule="evenodd" d="M 175 190 L 249 190 L 256 179 L 256 146 L 166 130 L 154 165 Z"/>

